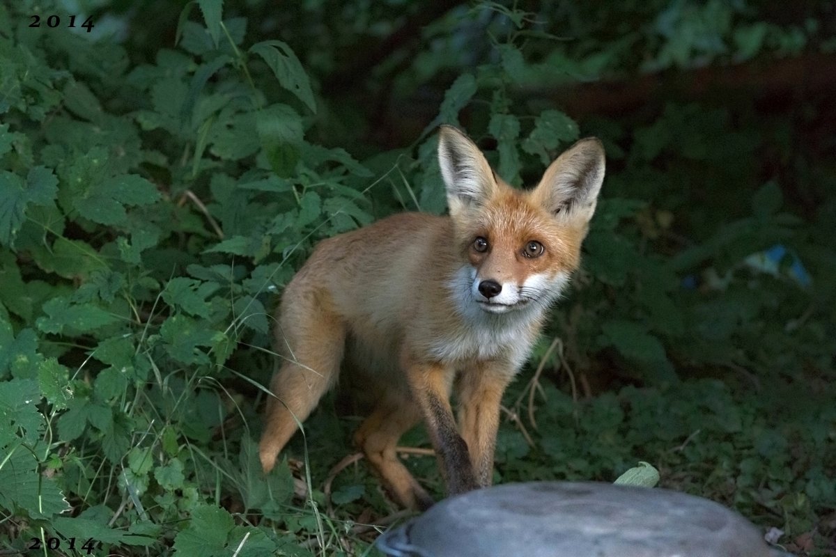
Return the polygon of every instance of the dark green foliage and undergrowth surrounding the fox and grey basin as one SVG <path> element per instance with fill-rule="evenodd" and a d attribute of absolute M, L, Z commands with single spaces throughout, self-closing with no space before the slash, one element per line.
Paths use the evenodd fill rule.
<path fill-rule="evenodd" d="M 271 310 L 319 239 L 443 212 L 451 123 L 515 185 L 608 153 L 496 480 L 646 460 L 836 553 L 836 3 L 76 4 L 0 4 L 0 549 L 375 554 L 339 400 L 260 472 Z"/>

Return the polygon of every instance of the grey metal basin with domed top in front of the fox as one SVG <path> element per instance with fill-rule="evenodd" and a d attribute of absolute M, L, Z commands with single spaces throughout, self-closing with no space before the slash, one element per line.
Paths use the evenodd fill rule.
<path fill-rule="evenodd" d="M 740 514 L 625 485 L 533 482 L 446 499 L 377 546 L 392 557 L 778 557 Z"/>

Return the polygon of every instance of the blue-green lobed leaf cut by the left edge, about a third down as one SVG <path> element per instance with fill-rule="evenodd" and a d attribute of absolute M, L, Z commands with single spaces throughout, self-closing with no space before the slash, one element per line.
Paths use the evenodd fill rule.
<path fill-rule="evenodd" d="M 11 246 L 26 215 L 27 205 L 50 205 L 58 195 L 58 178 L 45 166 L 20 176 L 0 170 L 0 244 Z"/>

